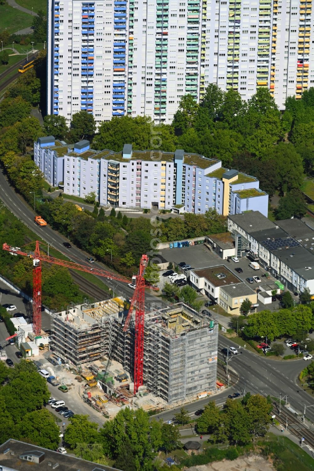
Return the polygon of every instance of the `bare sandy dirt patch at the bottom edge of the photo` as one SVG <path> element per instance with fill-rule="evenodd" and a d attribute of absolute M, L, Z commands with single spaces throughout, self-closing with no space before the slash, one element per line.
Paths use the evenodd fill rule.
<path fill-rule="evenodd" d="M 234 461 L 223 460 L 184 469 L 189 471 L 270 471 L 275 468 L 263 456 L 250 455 L 237 458 Z"/>

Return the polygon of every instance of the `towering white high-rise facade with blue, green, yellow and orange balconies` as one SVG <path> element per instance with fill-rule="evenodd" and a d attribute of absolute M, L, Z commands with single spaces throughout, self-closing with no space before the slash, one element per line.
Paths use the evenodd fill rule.
<path fill-rule="evenodd" d="M 48 113 L 169 123 L 209 83 L 283 109 L 312 86 L 311 17 L 309 0 L 49 0 Z"/>

